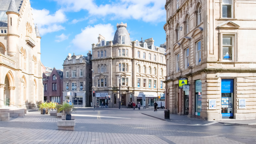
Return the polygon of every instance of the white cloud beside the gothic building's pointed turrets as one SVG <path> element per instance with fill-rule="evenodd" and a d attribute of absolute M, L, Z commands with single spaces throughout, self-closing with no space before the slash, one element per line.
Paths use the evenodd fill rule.
<path fill-rule="evenodd" d="M 33 9 L 34 23 L 38 25 L 38 29 L 41 35 L 46 33 L 56 32 L 65 29 L 61 23 L 67 21 L 66 15 L 63 10 L 58 10 L 55 14 L 50 15 L 50 11 L 47 9 Z"/>

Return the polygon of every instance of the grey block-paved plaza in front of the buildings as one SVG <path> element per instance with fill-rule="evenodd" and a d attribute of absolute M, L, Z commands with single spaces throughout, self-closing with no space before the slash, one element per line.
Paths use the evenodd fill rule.
<path fill-rule="evenodd" d="M 178 115 L 163 120 L 163 109 L 127 108 L 78 108 L 72 115 L 76 116 L 74 131 L 58 130 L 60 119 L 39 111 L 0 121 L 0 143 L 256 144 L 255 120 L 249 121 L 250 125 L 246 121 L 202 121 Z"/>

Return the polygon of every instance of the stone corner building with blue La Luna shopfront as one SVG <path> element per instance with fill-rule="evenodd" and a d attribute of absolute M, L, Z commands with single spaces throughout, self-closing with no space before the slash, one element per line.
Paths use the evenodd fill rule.
<path fill-rule="evenodd" d="M 255 7 L 256 2 L 244 0 L 166 1 L 166 108 L 171 114 L 256 118 Z M 186 96 L 179 78 L 190 84 Z M 239 107 L 244 99 L 246 107 Z"/>

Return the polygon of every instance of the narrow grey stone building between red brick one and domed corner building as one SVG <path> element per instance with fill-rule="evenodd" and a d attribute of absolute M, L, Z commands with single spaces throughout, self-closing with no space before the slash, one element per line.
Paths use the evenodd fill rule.
<path fill-rule="evenodd" d="M 90 107 L 92 102 L 91 51 L 87 56 L 68 54 L 63 63 L 63 102 L 70 100 L 73 105 Z M 75 96 L 76 94 L 76 96 Z"/>

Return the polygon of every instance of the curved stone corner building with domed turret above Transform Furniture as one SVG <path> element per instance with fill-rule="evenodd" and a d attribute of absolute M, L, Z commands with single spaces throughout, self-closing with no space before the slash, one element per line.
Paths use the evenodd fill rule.
<path fill-rule="evenodd" d="M 165 90 L 165 49 L 155 46 L 153 38 L 130 40 L 127 24 L 116 27 L 113 41 L 99 35 L 98 43 L 92 44 L 92 90 L 96 90 L 93 104 L 100 107 L 103 102 L 104 106 L 108 103 L 109 107 L 119 107 L 121 98 L 123 107 L 132 101 L 151 107 L 154 101 L 161 100 Z"/>

